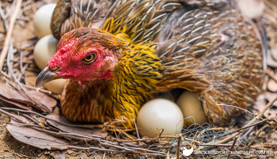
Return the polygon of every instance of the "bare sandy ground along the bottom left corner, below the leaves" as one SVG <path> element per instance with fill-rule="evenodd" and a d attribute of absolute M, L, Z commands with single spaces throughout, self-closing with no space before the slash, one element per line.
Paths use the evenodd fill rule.
<path fill-rule="evenodd" d="M 123 159 L 127 158 L 124 154 L 111 154 L 111 153 L 102 153 L 95 151 L 80 151 L 76 150 L 71 154 L 68 154 L 67 151 L 63 150 L 41 150 L 33 146 L 21 143 L 14 139 L 10 133 L 6 130 L 5 126 L 8 124 L 9 117 L 7 115 L 0 113 L 0 158 L 3 159 L 23 159 L 23 158 L 54 158 L 54 159 L 65 159 L 65 158 L 114 158 L 114 159 Z M 132 158 L 132 157 L 128 157 Z"/>

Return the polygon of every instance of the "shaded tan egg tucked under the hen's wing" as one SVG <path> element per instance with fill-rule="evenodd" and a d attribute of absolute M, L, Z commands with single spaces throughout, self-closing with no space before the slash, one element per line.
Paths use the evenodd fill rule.
<path fill-rule="evenodd" d="M 183 92 L 176 103 L 181 108 L 184 118 L 192 116 L 194 117 L 195 122 L 200 125 L 204 122 L 207 122 L 207 118 L 198 100 L 198 96 L 195 95 L 193 92 Z M 193 118 L 190 117 L 188 119 L 185 119 L 184 128 L 187 128 L 189 125 L 192 125 L 193 123 Z"/>

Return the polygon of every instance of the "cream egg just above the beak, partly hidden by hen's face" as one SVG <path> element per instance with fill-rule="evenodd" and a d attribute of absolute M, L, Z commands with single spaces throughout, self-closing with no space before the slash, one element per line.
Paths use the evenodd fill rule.
<path fill-rule="evenodd" d="M 34 61 L 39 69 L 46 67 L 47 62 L 56 52 L 58 42 L 52 34 L 39 39 L 34 47 Z"/>

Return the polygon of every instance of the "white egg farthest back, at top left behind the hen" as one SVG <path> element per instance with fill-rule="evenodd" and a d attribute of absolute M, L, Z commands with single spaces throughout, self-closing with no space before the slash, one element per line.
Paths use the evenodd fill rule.
<path fill-rule="evenodd" d="M 34 32 L 38 38 L 52 34 L 50 25 L 55 7 L 55 3 L 45 4 L 41 6 L 34 14 Z"/>

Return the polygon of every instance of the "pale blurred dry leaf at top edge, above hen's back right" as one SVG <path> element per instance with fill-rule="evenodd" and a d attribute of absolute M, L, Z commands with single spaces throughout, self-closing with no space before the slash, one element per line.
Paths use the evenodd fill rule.
<path fill-rule="evenodd" d="M 263 0 L 236 0 L 241 13 L 248 19 L 255 19 L 262 15 L 265 4 Z"/>

